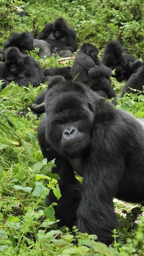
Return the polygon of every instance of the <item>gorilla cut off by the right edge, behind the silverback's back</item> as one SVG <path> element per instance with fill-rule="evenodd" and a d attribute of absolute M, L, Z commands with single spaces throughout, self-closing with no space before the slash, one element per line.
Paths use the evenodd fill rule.
<path fill-rule="evenodd" d="M 126 82 L 125 86 L 122 88 L 122 93 L 120 97 L 126 93 L 138 93 L 132 89 L 143 91 L 142 85 L 144 85 L 144 65 L 138 69 L 137 73 L 134 73 L 130 76 L 129 80 Z M 130 88 L 129 88 L 130 87 Z"/>

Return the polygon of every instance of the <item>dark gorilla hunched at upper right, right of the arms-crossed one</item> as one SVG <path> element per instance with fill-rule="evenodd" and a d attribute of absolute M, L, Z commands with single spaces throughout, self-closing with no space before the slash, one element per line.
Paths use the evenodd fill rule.
<path fill-rule="evenodd" d="M 142 62 L 135 61 L 134 56 L 127 53 L 117 40 L 107 43 L 101 63 L 112 70 L 116 69 L 114 77 L 117 81 L 129 79 L 132 73 L 137 72 L 138 68 L 142 66 Z"/>

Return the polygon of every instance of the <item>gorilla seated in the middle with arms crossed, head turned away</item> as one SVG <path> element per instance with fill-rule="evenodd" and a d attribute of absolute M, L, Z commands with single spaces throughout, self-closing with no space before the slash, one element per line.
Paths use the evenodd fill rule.
<path fill-rule="evenodd" d="M 111 69 L 100 64 L 97 54 L 94 45 L 83 43 L 71 68 L 72 79 L 83 82 L 103 97 L 115 97 L 109 78 Z"/>

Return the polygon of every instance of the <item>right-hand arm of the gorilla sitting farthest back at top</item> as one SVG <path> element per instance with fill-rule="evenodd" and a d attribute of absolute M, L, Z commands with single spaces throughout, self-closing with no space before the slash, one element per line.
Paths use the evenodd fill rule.
<path fill-rule="evenodd" d="M 76 52 L 77 50 L 76 32 L 71 27 L 68 27 L 67 45 L 64 46 L 63 50 L 70 50 L 71 52 Z"/>

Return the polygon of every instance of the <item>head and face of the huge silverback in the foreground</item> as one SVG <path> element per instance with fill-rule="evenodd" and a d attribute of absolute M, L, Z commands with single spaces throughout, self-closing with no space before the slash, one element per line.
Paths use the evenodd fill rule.
<path fill-rule="evenodd" d="M 46 138 L 52 148 L 70 159 L 84 156 L 94 119 L 93 106 L 84 91 L 72 82 L 54 85 L 47 93 L 46 113 Z"/>

